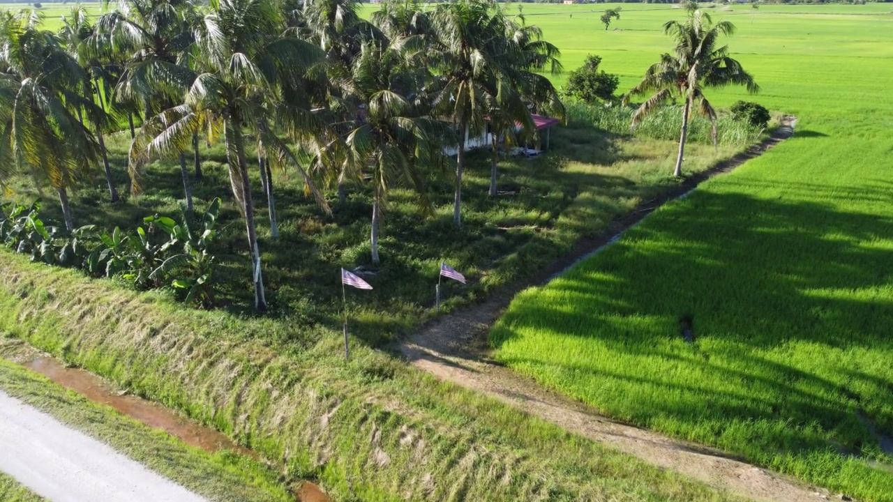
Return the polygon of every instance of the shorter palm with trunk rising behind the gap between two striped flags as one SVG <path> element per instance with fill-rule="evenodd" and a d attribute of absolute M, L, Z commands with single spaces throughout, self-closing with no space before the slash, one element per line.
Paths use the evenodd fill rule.
<path fill-rule="evenodd" d="M 400 44 L 397 44 L 400 46 Z M 445 163 L 442 145 L 451 136 L 444 122 L 423 115 L 419 104 L 407 99 L 417 87 L 421 66 L 396 48 L 363 47 L 353 67 L 353 82 L 363 103 L 355 129 L 346 138 L 349 161 L 367 172 L 372 184 L 372 263 L 378 264 L 379 229 L 388 189 L 396 184 L 415 190 L 421 212 L 433 214 L 423 169 Z"/>

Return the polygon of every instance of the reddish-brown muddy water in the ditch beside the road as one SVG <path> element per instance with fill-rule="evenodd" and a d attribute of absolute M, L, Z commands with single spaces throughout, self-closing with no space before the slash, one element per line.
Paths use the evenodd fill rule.
<path fill-rule="evenodd" d="M 229 449 L 241 455 L 260 459 L 260 456 L 254 451 L 238 446 L 218 431 L 193 423 L 163 406 L 146 401 L 146 399 L 116 392 L 108 383 L 93 373 L 66 368 L 52 357 L 38 357 L 22 365 L 32 372 L 46 376 L 66 389 L 74 390 L 91 401 L 112 406 L 140 423 L 145 423 L 153 429 L 166 431 L 191 447 L 201 448 L 210 453 Z M 294 493 L 296 499 L 301 502 L 331 502 L 329 496 L 320 487 L 309 481 L 301 483 Z"/>

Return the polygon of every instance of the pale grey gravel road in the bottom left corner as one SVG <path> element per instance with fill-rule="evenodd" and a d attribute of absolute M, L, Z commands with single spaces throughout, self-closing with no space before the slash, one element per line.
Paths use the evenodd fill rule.
<path fill-rule="evenodd" d="M 0 390 L 0 471 L 52 502 L 205 502 Z"/>

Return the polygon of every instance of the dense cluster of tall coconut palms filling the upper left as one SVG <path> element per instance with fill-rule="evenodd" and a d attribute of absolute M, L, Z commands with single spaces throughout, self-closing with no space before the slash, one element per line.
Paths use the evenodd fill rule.
<path fill-rule="evenodd" d="M 104 134 L 128 127 L 130 190 L 144 189 L 147 161 L 177 159 L 191 209 L 190 179 L 202 176 L 198 146 L 222 143 L 260 311 L 267 304 L 250 170 L 260 170 L 274 237 L 273 169 L 299 173 L 326 211 L 323 188 L 337 187 L 343 200 L 347 190 L 371 185 L 378 262 L 389 187 L 415 188 L 432 212 L 425 170 L 446 165 L 445 147 L 458 146 L 454 219 L 461 225 L 463 139 L 486 129 L 497 138 L 495 194 L 499 141 L 535 135 L 533 112 L 563 116 L 542 75 L 561 70 L 558 50 L 492 0 L 430 9 L 395 1 L 370 21 L 358 0 L 110 7 L 95 20 L 75 7 L 57 32 L 42 28 L 37 11 L 0 14 L 0 186 L 29 172 L 38 189 L 57 192 L 72 230 L 68 194 L 100 162 L 109 197 L 118 199 Z"/>

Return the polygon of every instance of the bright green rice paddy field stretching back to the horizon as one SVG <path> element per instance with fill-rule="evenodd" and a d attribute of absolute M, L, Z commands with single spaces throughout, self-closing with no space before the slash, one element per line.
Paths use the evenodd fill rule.
<path fill-rule="evenodd" d="M 893 436 L 891 7 L 761 5 L 753 22 L 749 5 L 711 10 L 737 24 L 728 43 L 756 100 L 796 114 L 796 136 L 524 291 L 491 332 L 497 358 L 623 421 L 893 500 L 893 442 L 879 438 Z M 624 4 L 605 31 L 589 9 L 524 12 L 568 68 L 600 54 L 622 89 L 680 17 Z"/>

